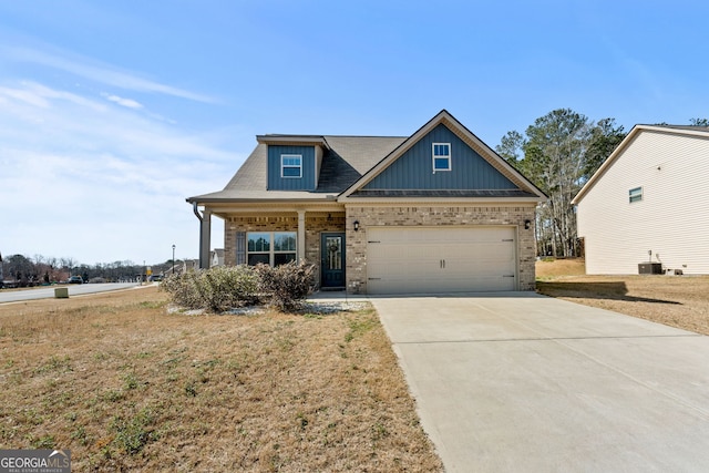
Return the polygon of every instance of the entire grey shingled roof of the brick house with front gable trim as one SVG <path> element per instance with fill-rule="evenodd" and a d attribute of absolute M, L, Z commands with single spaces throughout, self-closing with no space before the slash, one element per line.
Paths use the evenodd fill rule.
<path fill-rule="evenodd" d="M 383 172 L 439 124 L 445 125 L 518 189 L 407 192 L 403 197 L 523 197 L 546 196 L 518 171 L 500 157 L 448 111 L 443 110 L 411 136 L 258 135 L 257 146 L 224 189 L 187 198 L 188 203 L 333 202 L 357 197 L 398 197 L 401 192 L 382 194 L 360 188 Z M 323 151 L 318 186 L 315 191 L 269 191 L 267 185 L 268 145 L 316 145 Z"/>

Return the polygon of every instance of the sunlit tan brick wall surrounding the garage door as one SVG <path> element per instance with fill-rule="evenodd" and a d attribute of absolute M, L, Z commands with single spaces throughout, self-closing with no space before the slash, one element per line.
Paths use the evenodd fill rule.
<path fill-rule="evenodd" d="M 367 228 L 372 226 L 475 226 L 517 227 L 518 289 L 534 290 L 535 206 L 401 206 L 347 207 L 347 290 L 367 294 Z M 354 220 L 360 229 L 354 232 Z M 532 225 L 524 228 L 524 222 Z"/>

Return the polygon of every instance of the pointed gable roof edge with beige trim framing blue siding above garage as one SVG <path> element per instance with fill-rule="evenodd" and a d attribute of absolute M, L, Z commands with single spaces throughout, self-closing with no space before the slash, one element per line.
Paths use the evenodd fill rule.
<path fill-rule="evenodd" d="M 487 191 L 431 191 L 419 192 L 420 196 L 425 197 L 533 197 L 535 199 L 546 199 L 546 195 L 534 184 L 532 184 L 526 177 L 515 169 L 510 163 L 504 161 L 497 153 L 495 153 L 490 146 L 483 143 L 477 136 L 475 136 L 470 130 L 467 130 L 461 122 L 459 122 L 446 110 L 439 112 L 433 119 L 431 119 L 425 125 L 421 126 L 414 134 L 409 136 L 403 143 L 401 143 L 389 155 L 384 156 L 379 163 L 372 166 L 359 181 L 353 183 L 338 200 L 347 199 L 350 197 L 377 197 L 377 196 L 395 196 L 395 192 L 373 193 L 371 191 L 363 191 L 362 187 L 370 183 L 374 177 L 384 172 L 392 163 L 399 160 L 407 151 L 409 151 L 414 144 L 422 140 L 433 128 L 439 125 L 444 125 L 451 132 L 453 132 L 459 138 L 461 138 L 467 146 L 473 148 L 481 157 L 490 163 L 496 171 L 503 176 L 510 179 L 514 185 L 518 187 L 515 192 L 487 192 Z M 417 193 L 413 193 L 417 194 Z M 449 194 L 449 195 L 446 195 Z M 409 194 L 411 196 L 415 196 Z"/>

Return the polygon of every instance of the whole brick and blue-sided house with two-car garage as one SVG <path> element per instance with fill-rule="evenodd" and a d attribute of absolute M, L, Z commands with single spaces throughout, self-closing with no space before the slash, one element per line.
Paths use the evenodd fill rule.
<path fill-rule="evenodd" d="M 223 191 L 187 198 L 225 220 L 225 264 L 317 265 L 352 294 L 534 290 L 546 196 L 441 111 L 411 136 L 260 135 Z M 203 267 L 205 267 L 203 263 Z"/>

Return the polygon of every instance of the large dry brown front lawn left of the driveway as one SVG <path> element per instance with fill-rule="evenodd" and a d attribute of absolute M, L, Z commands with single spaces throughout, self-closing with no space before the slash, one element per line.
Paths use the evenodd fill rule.
<path fill-rule="evenodd" d="M 154 288 L 0 305 L 0 448 L 75 471 L 441 471 L 371 309 L 167 313 Z"/>

